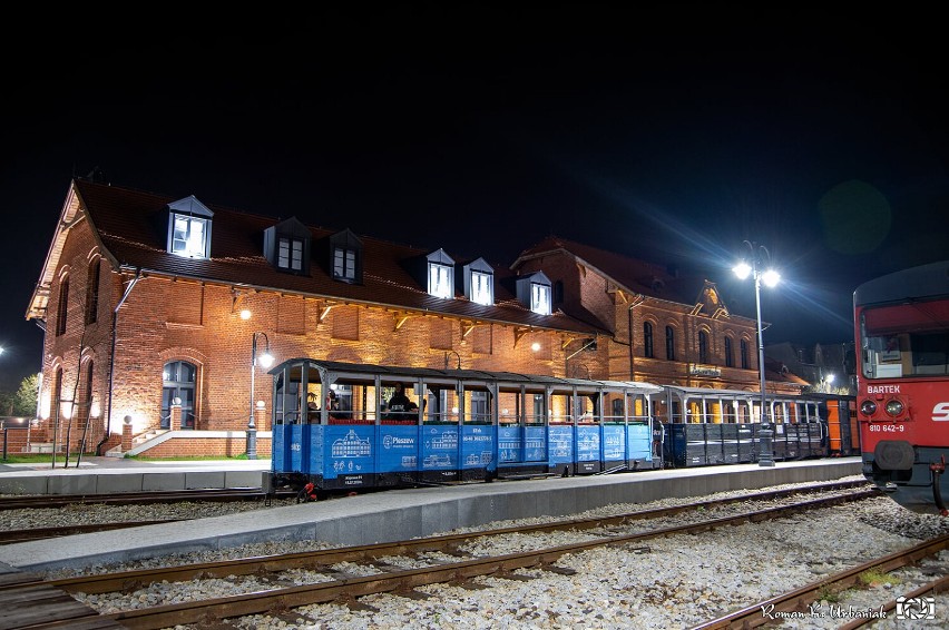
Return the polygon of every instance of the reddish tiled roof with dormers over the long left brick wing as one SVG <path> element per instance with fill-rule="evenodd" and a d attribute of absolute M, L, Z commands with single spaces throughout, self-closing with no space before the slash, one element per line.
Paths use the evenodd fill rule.
<path fill-rule="evenodd" d="M 375 304 L 393 309 L 443 313 L 485 323 L 587 334 L 605 333 L 603 328 L 576 321 L 562 313 L 537 315 L 521 306 L 513 295 L 503 289 L 500 282 L 496 283 L 493 306 L 474 304 L 460 296 L 454 299 L 433 297 L 418 284 L 403 264 L 408 259 L 431 253 L 431 248 L 419 249 L 361 237 L 364 270 L 362 284 L 336 282 L 320 265 L 313 265 L 309 276 L 281 273 L 267 263 L 263 252 L 264 230 L 281 219 L 214 205 L 204 206 L 214 216 L 212 257 L 203 259 L 175 256 L 165 249 L 167 225 L 160 225 L 160 215 L 169 204 L 177 200 L 175 197 L 75 179 L 63 216 L 68 214 L 66 218 L 71 218 L 77 208 L 84 210 L 101 243 L 104 255 L 117 267 L 128 270 L 349 303 Z M 309 229 L 314 242 L 340 232 L 316 227 Z M 41 295 L 48 296 L 51 274 L 58 266 L 65 235 L 62 230 L 57 232 L 40 283 L 33 294 L 32 305 L 27 313 L 28 319 L 45 317 L 46 302 L 40 305 L 38 298 Z M 510 275 L 510 272 L 503 268 L 495 268 L 495 273 L 499 279 Z"/>

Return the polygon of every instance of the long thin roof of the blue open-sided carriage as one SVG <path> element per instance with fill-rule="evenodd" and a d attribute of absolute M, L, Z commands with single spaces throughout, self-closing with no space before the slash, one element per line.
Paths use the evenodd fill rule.
<path fill-rule="evenodd" d="M 593 378 L 567 378 L 559 376 L 547 376 L 542 374 L 521 374 L 516 372 L 491 372 L 486 370 L 439 370 L 436 367 L 409 367 L 409 366 L 384 366 L 363 363 L 344 363 L 337 361 L 322 361 L 309 357 L 288 358 L 270 370 L 270 374 L 277 375 L 284 370 L 307 364 L 311 367 L 322 368 L 330 372 L 350 374 L 379 374 L 391 376 L 392 380 L 400 378 L 425 378 L 434 381 L 491 381 L 498 383 L 532 383 L 536 385 L 552 386 L 578 386 L 581 388 L 633 388 L 646 393 L 658 393 L 663 388 L 653 383 L 640 381 L 597 381 Z"/>

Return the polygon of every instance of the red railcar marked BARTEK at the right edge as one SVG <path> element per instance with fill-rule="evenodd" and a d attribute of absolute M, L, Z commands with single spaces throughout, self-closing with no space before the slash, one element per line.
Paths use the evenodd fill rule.
<path fill-rule="evenodd" d="M 863 474 L 914 512 L 949 515 L 949 260 L 853 292 Z"/>

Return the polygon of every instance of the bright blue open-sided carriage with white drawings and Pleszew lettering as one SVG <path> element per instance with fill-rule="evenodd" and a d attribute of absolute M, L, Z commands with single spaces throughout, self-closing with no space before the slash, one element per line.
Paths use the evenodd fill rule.
<path fill-rule="evenodd" d="M 662 467 L 648 415 L 662 388 L 647 383 L 312 358 L 271 375 L 266 490 Z"/>

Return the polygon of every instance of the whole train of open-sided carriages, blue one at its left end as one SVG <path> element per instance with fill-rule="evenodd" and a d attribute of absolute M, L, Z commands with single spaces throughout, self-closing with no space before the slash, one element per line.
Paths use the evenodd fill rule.
<path fill-rule="evenodd" d="M 727 464 L 759 453 L 754 392 L 311 358 L 286 361 L 271 374 L 267 490 L 312 483 L 320 495 Z M 319 402 L 311 408 L 307 400 Z M 820 401 L 769 401 L 784 436 L 774 441 L 776 459 L 826 454 Z"/>

